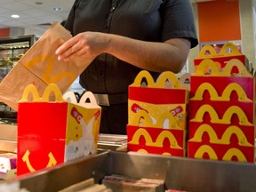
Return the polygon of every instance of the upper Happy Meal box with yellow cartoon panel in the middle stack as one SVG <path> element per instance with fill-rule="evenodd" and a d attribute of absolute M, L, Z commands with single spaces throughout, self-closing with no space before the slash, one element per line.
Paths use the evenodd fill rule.
<path fill-rule="evenodd" d="M 143 110 L 148 113 L 153 124 L 162 114 L 170 113 L 179 127 L 186 129 L 188 99 L 189 91 L 180 85 L 171 71 L 160 74 L 155 82 L 148 71 L 142 70 L 128 87 L 128 124 Z"/>

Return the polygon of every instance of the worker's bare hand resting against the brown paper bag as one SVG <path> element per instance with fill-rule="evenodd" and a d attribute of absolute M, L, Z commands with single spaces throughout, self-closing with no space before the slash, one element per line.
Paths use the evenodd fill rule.
<path fill-rule="evenodd" d="M 80 33 L 62 44 L 57 50 L 58 60 L 68 61 L 76 57 L 92 57 L 105 52 L 108 35 L 98 32 Z"/>

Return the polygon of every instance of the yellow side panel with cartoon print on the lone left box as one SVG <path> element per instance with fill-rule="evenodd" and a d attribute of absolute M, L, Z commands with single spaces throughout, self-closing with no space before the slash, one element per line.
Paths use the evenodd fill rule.
<path fill-rule="evenodd" d="M 100 109 L 88 111 L 81 106 L 73 106 L 68 109 L 68 113 L 70 116 L 68 116 L 65 159 L 69 161 L 95 154 L 100 127 Z"/>

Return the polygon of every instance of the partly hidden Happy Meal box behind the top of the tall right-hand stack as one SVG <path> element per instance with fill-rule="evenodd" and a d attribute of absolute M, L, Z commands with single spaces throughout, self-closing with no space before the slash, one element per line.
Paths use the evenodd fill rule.
<path fill-rule="evenodd" d="M 203 60 L 209 59 L 216 62 L 219 70 L 224 68 L 229 60 L 233 59 L 240 60 L 241 63 L 243 63 L 244 66 L 246 66 L 245 55 L 238 51 L 236 44 L 230 42 L 222 46 L 220 53 L 217 53 L 212 45 L 204 45 L 204 47 L 199 52 L 198 57 L 194 60 L 195 71 Z M 233 68 L 232 72 L 237 73 L 237 68 Z"/>

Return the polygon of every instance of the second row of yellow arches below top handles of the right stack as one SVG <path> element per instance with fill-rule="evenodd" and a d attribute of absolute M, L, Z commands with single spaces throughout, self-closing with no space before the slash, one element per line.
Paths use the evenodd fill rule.
<path fill-rule="evenodd" d="M 196 112 L 196 116 L 194 119 L 191 119 L 191 122 L 203 122 L 204 121 L 204 114 L 208 112 L 211 116 L 211 123 L 213 124 L 231 124 L 231 117 L 236 114 L 239 118 L 239 124 L 243 125 L 252 125 L 248 119 L 247 116 L 244 114 L 244 111 L 242 108 L 239 108 L 237 106 L 231 106 L 228 108 L 223 115 L 222 119 L 219 118 L 217 112 L 214 108 L 212 108 L 211 105 L 203 105 L 201 108 L 199 108 Z"/>

